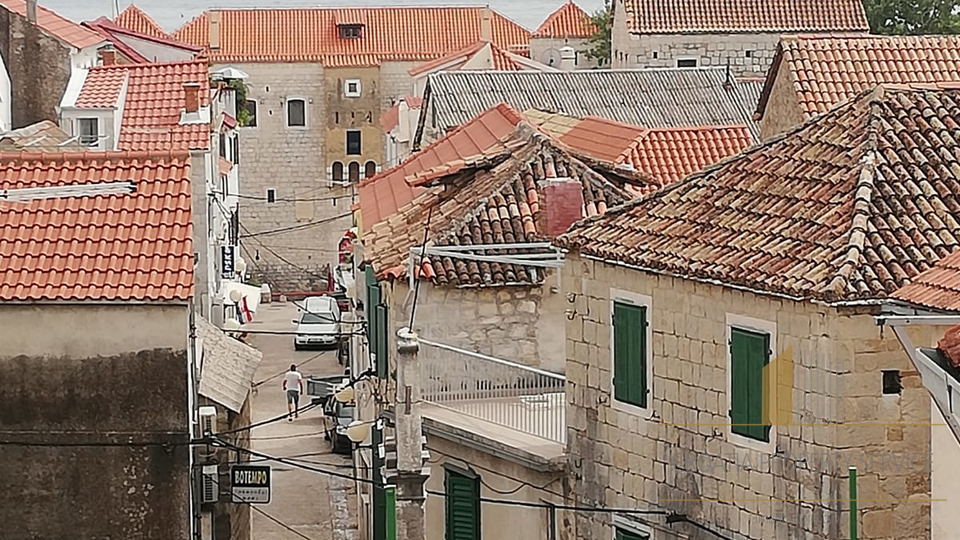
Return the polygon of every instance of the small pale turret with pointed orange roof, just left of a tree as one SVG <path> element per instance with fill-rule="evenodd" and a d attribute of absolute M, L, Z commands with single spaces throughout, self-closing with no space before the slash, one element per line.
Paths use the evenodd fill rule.
<path fill-rule="evenodd" d="M 568 0 L 530 34 L 530 58 L 564 70 L 596 69 L 600 67 L 597 61 L 583 54 L 588 48 L 587 39 L 596 31 L 590 15 Z M 564 49 L 573 49 L 573 54 L 564 56 Z"/>

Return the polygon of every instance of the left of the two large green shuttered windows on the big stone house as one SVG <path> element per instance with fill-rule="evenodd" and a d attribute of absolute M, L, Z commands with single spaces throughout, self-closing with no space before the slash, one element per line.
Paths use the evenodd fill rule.
<path fill-rule="evenodd" d="M 613 397 L 647 407 L 647 307 L 613 303 Z"/>

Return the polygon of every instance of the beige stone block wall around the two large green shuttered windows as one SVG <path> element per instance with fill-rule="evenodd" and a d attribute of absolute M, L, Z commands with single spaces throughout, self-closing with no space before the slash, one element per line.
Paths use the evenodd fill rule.
<path fill-rule="evenodd" d="M 836 499 L 845 497 L 850 463 L 860 466 L 861 538 L 929 538 L 930 475 L 922 470 L 929 468 L 923 463 L 930 453 L 929 396 L 892 332 L 881 337 L 870 312 L 576 255 L 568 258 L 563 286 L 577 295 L 576 310 L 590 313 L 566 328 L 575 503 L 652 505 L 734 537 L 845 538 L 847 505 Z M 624 294 L 614 289 L 650 303 L 652 401 L 645 410 L 612 399 L 610 301 Z M 729 432 L 731 317 L 769 325 L 776 353 L 795 353 L 793 422 L 774 426 L 771 443 L 744 442 Z M 919 346 L 936 335 L 912 337 Z M 902 394 L 881 395 L 885 369 L 901 370 Z M 885 456 L 897 461 L 884 464 Z M 611 537 L 606 516 L 579 515 L 576 526 L 578 538 Z M 712 538 L 672 527 L 693 539 Z"/>

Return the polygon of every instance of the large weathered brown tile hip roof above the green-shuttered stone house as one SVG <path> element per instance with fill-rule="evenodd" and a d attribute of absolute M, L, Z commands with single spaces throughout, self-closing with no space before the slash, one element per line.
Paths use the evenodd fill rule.
<path fill-rule="evenodd" d="M 770 293 L 886 298 L 960 247 L 956 110 L 960 90 L 881 86 L 561 241 Z"/>

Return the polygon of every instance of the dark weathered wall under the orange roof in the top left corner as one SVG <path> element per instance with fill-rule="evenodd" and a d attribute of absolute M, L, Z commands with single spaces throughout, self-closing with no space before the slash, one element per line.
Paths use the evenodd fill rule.
<path fill-rule="evenodd" d="M 70 81 L 70 47 L 26 17 L 0 8 L 0 55 L 10 75 L 12 129 L 41 120 L 56 122 Z"/>

